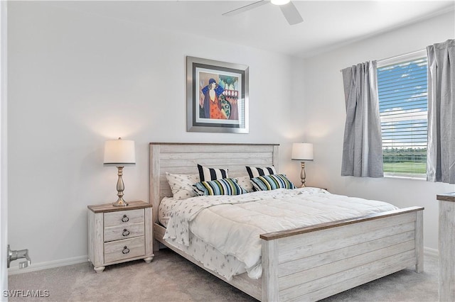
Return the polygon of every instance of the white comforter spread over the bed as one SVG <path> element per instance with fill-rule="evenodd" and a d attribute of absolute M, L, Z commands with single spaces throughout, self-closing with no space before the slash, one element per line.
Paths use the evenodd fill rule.
<path fill-rule="evenodd" d="M 173 201 L 164 239 L 189 245 L 190 232 L 223 255 L 262 275 L 260 234 L 392 211 L 382 201 L 330 194 L 323 189 L 278 189 L 240 196 L 198 196 Z M 232 276 L 225 276 L 227 279 Z"/>

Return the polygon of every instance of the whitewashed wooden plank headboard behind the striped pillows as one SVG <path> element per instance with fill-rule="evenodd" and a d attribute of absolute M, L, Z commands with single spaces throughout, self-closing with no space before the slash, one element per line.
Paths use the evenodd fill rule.
<path fill-rule="evenodd" d="M 245 166 L 278 169 L 278 144 L 211 144 L 211 143 L 150 143 L 150 203 L 154 222 L 158 222 L 161 199 L 172 196 L 166 179 L 171 174 L 198 174 L 197 164 L 205 167 L 228 168 L 229 177 L 247 176 Z"/>

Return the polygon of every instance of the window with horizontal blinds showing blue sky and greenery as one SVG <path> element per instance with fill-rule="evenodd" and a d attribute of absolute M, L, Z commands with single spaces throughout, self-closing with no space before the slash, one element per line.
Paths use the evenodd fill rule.
<path fill-rule="evenodd" d="M 384 174 L 427 172 L 427 52 L 378 62 Z"/>

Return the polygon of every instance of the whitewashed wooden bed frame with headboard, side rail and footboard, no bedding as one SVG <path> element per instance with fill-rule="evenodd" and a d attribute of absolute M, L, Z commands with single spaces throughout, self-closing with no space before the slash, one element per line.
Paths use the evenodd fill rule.
<path fill-rule="evenodd" d="M 245 177 L 245 166 L 279 170 L 276 144 L 150 143 L 150 202 L 154 248 L 169 247 L 259 301 L 317 301 L 407 267 L 423 272 L 423 210 L 394 209 L 367 216 L 260 234 L 262 274 L 232 279 L 170 245 L 159 222 L 159 205 L 172 196 L 166 178 L 197 174 L 196 164 L 226 167 Z M 159 243 L 158 243 L 159 242 Z"/>

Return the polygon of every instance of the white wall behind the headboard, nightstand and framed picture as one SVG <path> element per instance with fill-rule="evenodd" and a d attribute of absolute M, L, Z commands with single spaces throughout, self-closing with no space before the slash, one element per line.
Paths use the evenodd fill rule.
<path fill-rule="evenodd" d="M 9 242 L 33 264 L 87 259 L 87 205 L 117 198 L 108 138 L 136 141 L 130 201 L 149 199 L 149 142 L 279 143 L 298 180 L 295 59 L 35 1 L 12 1 L 8 26 Z M 186 55 L 250 66 L 250 134 L 186 132 Z"/>

